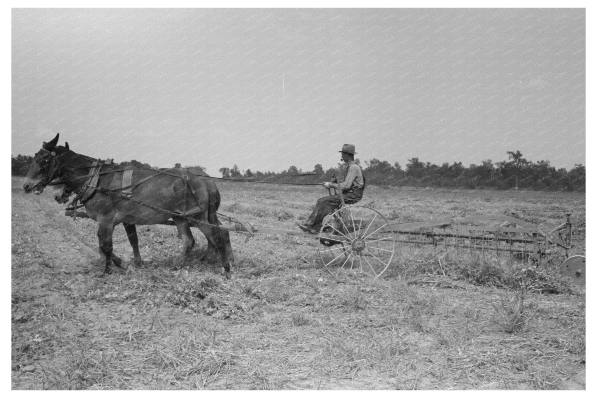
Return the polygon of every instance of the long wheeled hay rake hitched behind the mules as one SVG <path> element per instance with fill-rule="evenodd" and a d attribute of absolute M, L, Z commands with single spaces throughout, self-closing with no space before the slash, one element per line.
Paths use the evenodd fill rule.
<path fill-rule="evenodd" d="M 303 209 L 297 220 L 305 220 L 313 206 Z M 67 210 L 66 215 L 72 216 L 73 211 Z M 76 215 L 88 217 L 84 212 L 76 212 Z M 303 261 L 322 265 L 334 276 L 354 270 L 379 277 L 401 258 L 420 254 L 424 246 L 432 246 L 438 252 L 476 250 L 501 255 L 509 262 L 533 261 L 538 264 L 558 248 L 568 257 L 572 236 L 570 213 L 567 213 L 565 223 L 545 232 L 534 224 L 500 214 L 390 223 L 368 206 L 347 205 L 324 218 L 318 235 L 261 228 L 219 215 L 229 223 L 221 226 L 223 229 L 250 235 L 289 236 Z M 174 222 L 164 224 L 174 225 Z M 584 260 L 583 256 L 568 258 L 562 264 L 562 274 L 584 285 Z"/>

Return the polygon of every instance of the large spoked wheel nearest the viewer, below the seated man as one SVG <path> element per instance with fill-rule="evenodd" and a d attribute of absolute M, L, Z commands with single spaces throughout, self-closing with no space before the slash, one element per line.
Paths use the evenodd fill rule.
<path fill-rule="evenodd" d="M 367 206 L 350 205 L 324 218 L 319 258 L 332 275 L 355 270 L 379 277 L 394 256 L 395 240 L 386 218 Z"/>

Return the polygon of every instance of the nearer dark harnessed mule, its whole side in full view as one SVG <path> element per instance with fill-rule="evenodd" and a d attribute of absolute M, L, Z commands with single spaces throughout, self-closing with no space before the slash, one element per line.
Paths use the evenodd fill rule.
<path fill-rule="evenodd" d="M 50 181 L 56 179 L 71 192 L 82 193 L 90 183 L 93 174 L 99 175 L 97 187 L 85 201 L 85 211 L 99 224 L 97 236 L 100 251 L 106 256 L 104 272 L 110 272 L 112 254 L 112 232 L 114 226 L 151 225 L 165 223 L 172 218 L 183 240 L 183 264 L 195 245 L 190 223 L 198 227 L 208 241 L 206 257 L 211 260 L 214 252 L 221 257 L 221 265 L 227 272 L 234 261 L 230 247 L 230 235 L 218 225 L 216 210 L 220 194 L 216 184 L 199 177 L 197 171 L 134 169 L 128 186 L 132 192 L 123 193 L 124 170 L 109 166 L 100 172 L 90 174 L 96 159 L 79 155 L 66 146 L 57 146 L 59 135 L 44 143 L 33 157 L 33 163 L 25 177 L 23 189 L 26 193 L 41 193 Z M 205 174 L 203 174 L 205 175 Z M 183 178 L 181 178 L 183 177 Z M 190 210 L 189 210 L 190 209 Z M 127 235 L 128 231 L 127 231 Z M 132 244 L 132 242 L 131 242 Z M 119 260 L 119 259 L 118 259 Z M 115 261 L 116 265 L 118 260 Z"/>

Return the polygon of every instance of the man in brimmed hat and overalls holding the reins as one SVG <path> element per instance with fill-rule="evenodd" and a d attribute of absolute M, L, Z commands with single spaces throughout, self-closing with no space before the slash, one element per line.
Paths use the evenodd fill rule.
<path fill-rule="evenodd" d="M 340 195 L 344 199 L 344 203 L 347 205 L 353 205 L 363 197 L 363 191 L 365 190 L 365 177 L 361 166 L 355 162 L 355 146 L 352 144 L 344 144 L 342 150 L 338 152 L 342 153 L 342 161 L 346 163 L 346 172 L 344 173 L 344 180 L 338 183 L 323 183 L 322 186 L 326 189 L 339 189 L 341 194 L 324 196 L 319 198 L 315 205 L 315 209 L 307 218 L 303 224 L 297 221 L 297 226 L 304 232 L 312 234 L 319 233 L 321 229 L 321 223 L 324 217 L 328 214 L 332 214 L 338 209 L 342 203 Z"/>

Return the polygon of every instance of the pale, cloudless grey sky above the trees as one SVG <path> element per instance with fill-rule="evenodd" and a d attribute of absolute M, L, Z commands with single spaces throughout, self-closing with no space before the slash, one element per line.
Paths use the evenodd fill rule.
<path fill-rule="evenodd" d="M 13 8 L 11 44 L 13 156 L 586 163 L 583 8 Z"/>

